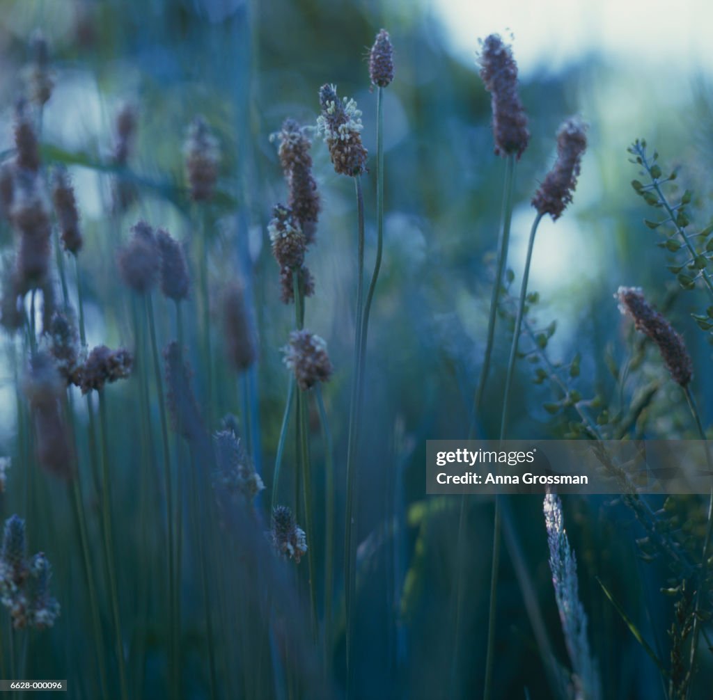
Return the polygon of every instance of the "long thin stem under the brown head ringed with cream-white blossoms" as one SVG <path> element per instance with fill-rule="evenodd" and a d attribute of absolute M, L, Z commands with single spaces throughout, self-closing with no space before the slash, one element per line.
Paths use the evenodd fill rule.
<path fill-rule="evenodd" d="M 352 634 L 354 619 L 352 606 L 356 592 L 356 459 L 357 433 L 359 431 L 359 398 L 361 396 L 361 371 L 364 358 L 361 354 L 361 320 L 364 309 L 364 192 L 361 177 L 354 177 L 356 187 L 357 226 L 357 269 L 356 269 L 356 329 L 354 333 L 354 381 L 352 399 L 349 405 L 349 437 L 347 438 L 347 504 L 344 527 L 344 603 L 346 607 L 346 651 L 347 651 L 347 691 L 351 686 Z M 348 695 L 348 692 L 347 692 Z"/>

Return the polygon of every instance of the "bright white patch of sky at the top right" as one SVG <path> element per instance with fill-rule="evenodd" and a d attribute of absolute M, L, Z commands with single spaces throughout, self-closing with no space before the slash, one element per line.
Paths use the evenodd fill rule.
<path fill-rule="evenodd" d="M 651 66 L 713 73 L 710 0 L 431 0 L 456 53 L 478 38 L 515 35 L 520 74 L 557 70 L 590 51 Z"/>

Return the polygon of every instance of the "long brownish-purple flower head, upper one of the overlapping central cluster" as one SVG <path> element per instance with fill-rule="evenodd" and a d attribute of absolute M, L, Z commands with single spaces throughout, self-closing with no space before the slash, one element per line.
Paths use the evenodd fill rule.
<path fill-rule="evenodd" d="M 319 217 L 317 182 L 312 177 L 312 156 L 309 155 L 312 141 L 294 119 L 284 120 L 282 130 L 274 136 L 279 140 L 279 162 L 289 188 L 289 208 L 299 221 L 306 244 L 310 245 L 314 242 Z"/>

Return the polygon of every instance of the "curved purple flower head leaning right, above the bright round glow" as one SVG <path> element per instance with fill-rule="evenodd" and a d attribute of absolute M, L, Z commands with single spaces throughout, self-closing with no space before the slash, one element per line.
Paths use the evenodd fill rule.
<path fill-rule="evenodd" d="M 587 127 L 578 117 L 571 117 L 557 132 L 557 160 L 535 192 L 533 207 L 542 215 L 558 220 L 577 186 L 582 155 L 587 148 Z"/>

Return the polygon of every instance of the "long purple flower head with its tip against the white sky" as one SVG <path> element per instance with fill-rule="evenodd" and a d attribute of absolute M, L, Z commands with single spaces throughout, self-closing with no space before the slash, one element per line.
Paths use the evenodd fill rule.
<path fill-rule="evenodd" d="M 510 46 L 498 34 L 483 41 L 481 78 L 491 93 L 496 155 L 525 152 L 530 140 L 528 118 L 518 94 L 518 66 Z"/>

